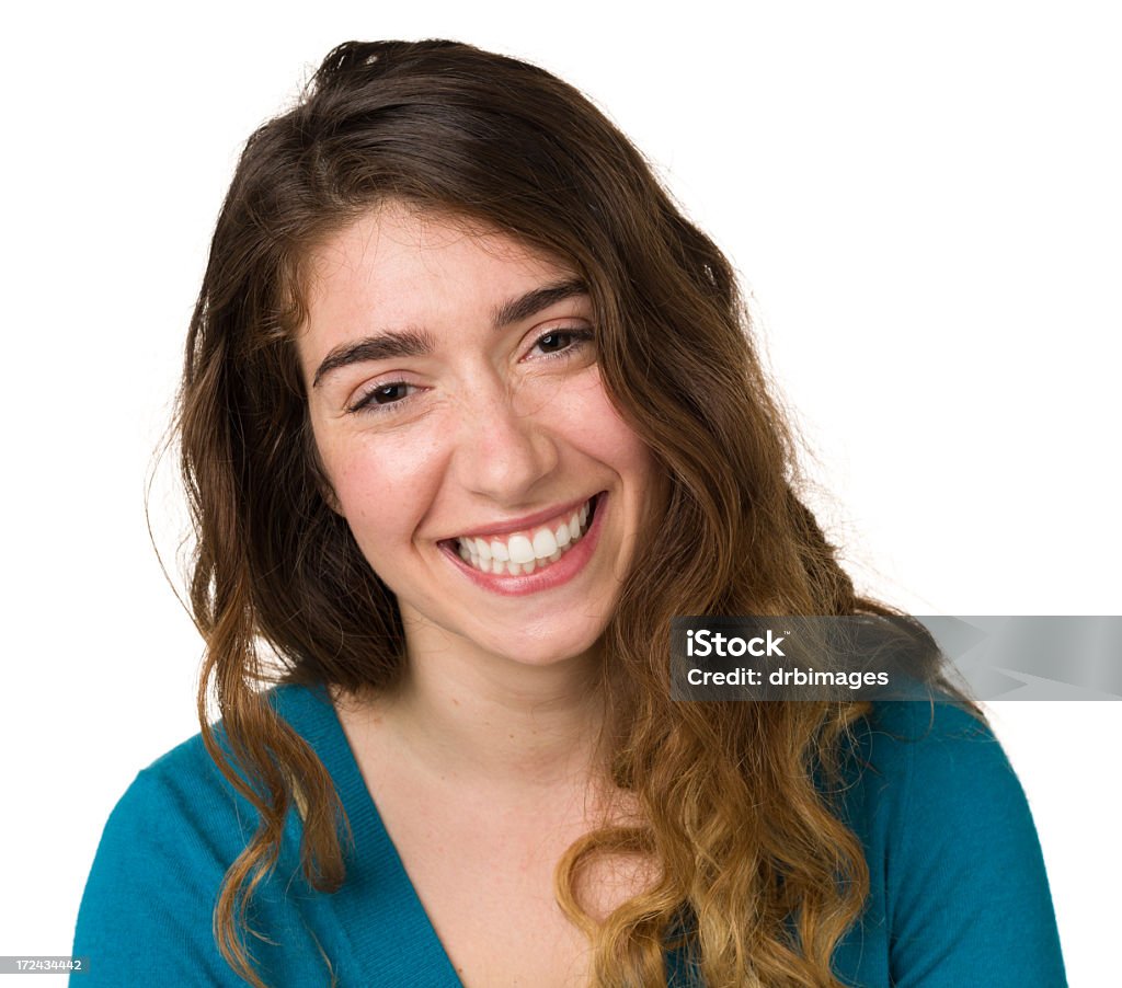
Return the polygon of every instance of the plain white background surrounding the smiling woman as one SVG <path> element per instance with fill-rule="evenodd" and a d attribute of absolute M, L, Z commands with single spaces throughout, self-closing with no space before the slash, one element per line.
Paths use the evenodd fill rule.
<path fill-rule="evenodd" d="M 635 139 L 748 281 L 865 589 L 920 613 L 1120 611 L 1114 4 L 620 6 L 9 16 L 0 954 L 68 952 L 110 809 L 197 730 L 200 643 L 145 479 L 240 144 L 347 38 L 526 57 Z M 151 518 L 177 579 L 168 465 Z M 1072 984 L 1102 985 L 1122 705 L 991 712 Z"/>

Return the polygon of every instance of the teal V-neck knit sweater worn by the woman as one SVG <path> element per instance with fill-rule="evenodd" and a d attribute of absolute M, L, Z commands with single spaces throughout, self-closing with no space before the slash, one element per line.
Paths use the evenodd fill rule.
<path fill-rule="evenodd" d="M 355 849 L 333 895 L 300 876 L 293 814 L 251 907 L 270 986 L 458 988 L 322 690 L 284 686 L 280 714 L 315 749 Z M 858 731 L 847 823 L 865 848 L 865 914 L 834 968 L 862 988 L 1061 988 L 1043 860 L 1024 794 L 993 735 L 957 708 L 879 703 Z M 857 765 L 863 766 L 861 769 Z M 240 985 L 211 933 L 218 887 L 254 830 L 195 738 L 141 772 L 113 810 L 77 918 L 76 986 Z M 670 984 L 691 982 L 681 958 Z"/>

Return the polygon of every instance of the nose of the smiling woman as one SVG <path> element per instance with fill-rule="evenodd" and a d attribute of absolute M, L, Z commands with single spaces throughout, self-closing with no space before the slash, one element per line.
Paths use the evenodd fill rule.
<path fill-rule="evenodd" d="M 462 410 L 458 427 L 460 482 L 499 505 L 532 500 L 535 486 L 559 459 L 548 409 L 527 407 L 499 381 L 476 399 Z"/>

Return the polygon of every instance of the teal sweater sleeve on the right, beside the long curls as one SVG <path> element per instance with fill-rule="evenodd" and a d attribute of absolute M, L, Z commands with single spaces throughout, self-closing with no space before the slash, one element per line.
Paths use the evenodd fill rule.
<path fill-rule="evenodd" d="M 992 731 L 949 703 L 889 704 L 881 730 L 902 778 L 885 849 L 893 984 L 1063 988 L 1040 842 Z"/>

